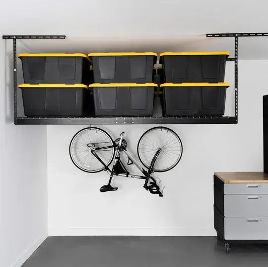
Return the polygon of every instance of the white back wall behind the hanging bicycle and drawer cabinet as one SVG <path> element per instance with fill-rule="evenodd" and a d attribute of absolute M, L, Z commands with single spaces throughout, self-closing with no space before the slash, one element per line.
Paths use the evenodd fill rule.
<path fill-rule="evenodd" d="M 70 139 L 84 126 L 48 126 L 49 234 L 214 235 L 213 173 L 263 170 L 267 70 L 268 61 L 239 62 L 237 125 L 167 125 L 181 137 L 184 153 L 176 168 L 158 175 L 166 185 L 163 198 L 126 178 L 115 178 L 118 191 L 100 193 L 107 174 L 84 173 L 68 155 Z M 134 153 L 153 126 L 100 125 L 112 137 L 124 130 Z"/>

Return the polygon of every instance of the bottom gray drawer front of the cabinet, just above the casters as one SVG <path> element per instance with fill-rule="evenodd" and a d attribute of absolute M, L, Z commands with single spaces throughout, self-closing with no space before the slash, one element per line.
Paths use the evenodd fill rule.
<path fill-rule="evenodd" d="M 268 218 L 224 218 L 224 238 L 226 240 L 268 240 Z"/>

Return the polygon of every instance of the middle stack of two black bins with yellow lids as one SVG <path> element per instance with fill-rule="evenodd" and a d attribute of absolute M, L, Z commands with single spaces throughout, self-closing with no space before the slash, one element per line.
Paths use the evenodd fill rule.
<path fill-rule="evenodd" d="M 153 52 L 90 53 L 96 116 L 151 116 L 154 91 Z"/>

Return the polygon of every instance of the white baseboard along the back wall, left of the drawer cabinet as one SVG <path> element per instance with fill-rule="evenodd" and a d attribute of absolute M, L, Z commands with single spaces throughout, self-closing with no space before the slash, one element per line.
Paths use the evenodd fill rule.
<path fill-rule="evenodd" d="M 50 228 L 49 236 L 216 236 L 214 228 L 191 229 L 186 227 L 157 228 Z"/>

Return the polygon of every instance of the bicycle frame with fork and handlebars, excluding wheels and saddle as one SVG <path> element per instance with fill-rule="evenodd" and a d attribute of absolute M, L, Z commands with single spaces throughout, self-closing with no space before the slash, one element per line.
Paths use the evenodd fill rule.
<path fill-rule="evenodd" d="M 157 150 L 157 152 L 155 153 L 152 161 L 151 161 L 151 164 L 148 168 L 148 171 L 144 170 L 141 165 L 134 159 L 134 157 L 132 156 L 132 154 L 130 152 L 127 151 L 126 148 L 123 148 L 122 147 L 122 140 L 123 140 L 123 135 L 124 135 L 124 132 L 121 133 L 121 138 L 118 142 L 118 144 L 114 144 L 113 146 L 106 146 L 106 147 L 99 147 L 99 148 L 92 148 L 91 150 L 91 153 L 92 155 L 94 155 L 94 157 L 97 158 L 97 160 L 103 165 L 104 167 L 104 171 L 107 171 L 109 174 L 110 174 L 110 179 L 109 179 L 109 182 L 108 182 L 108 185 L 110 186 L 111 185 L 111 181 L 112 181 L 112 178 L 114 175 L 117 175 L 117 176 L 121 176 L 121 177 L 126 177 L 126 178 L 138 178 L 138 179 L 144 179 L 145 182 L 144 182 L 144 185 L 143 187 L 147 190 L 149 190 L 151 193 L 158 193 L 160 196 L 162 196 L 162 193 L 160 192 L 159 190 L 159 187 L 158 185 L 156 184 L 156 181 L 154 178 L 151 177 L 151 174 L 153 173 L 154 171 L 154 164 L 161 152 L 161 149 L 159 148 Z M 100 159 L 100 157 L 96 154 L 96 151 L 98 150 L 105 150 L 105 149 L 110 149 L 110 148 L 115 148 L 116 149 L 116 153 L 115 153 L 115 160 L 114 160 L 114 164 L 113 164 L 113 167 L 112 167 L 112 170 L 105 165 L 105 163 Z M 140 176 L 140 175 L 134 175 L 134 174 L 130 174 L 127 169 L 125 168 L 124 164 L 121 162 L 120 160 L 120 152 L 124 152 L 127 157 L 129 158 L 129 160 L 139 169 L 139 171 L 143 174 L 143 176 Z M 122 173 L 122 174 L 116 174 L 115 173 L 115 166 L 116 164 L 118 163 L 118 161 L 120 161 L 120 163 L 122 164 L 122 166 L 124 167 L 126 173 Z M 147 185 L 148 184 L 148 181 L 149 179 L 151 179 L 153 182 L 151 182 L 151 185 Z M 154 185 L 154 188 L 152 186 L 152 184 Z"/>

